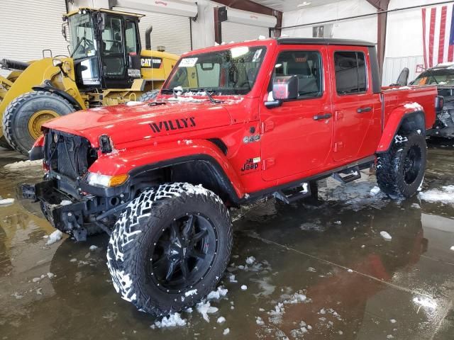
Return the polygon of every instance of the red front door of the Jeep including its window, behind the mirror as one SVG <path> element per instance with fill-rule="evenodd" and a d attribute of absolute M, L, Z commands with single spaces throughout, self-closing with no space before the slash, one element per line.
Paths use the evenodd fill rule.
<path fill-rule="evenodd" d="M 325 51 L 326 47 L 320 45 L 286 45 L 278 50 L 273 77 L 297 75 L 299 96 L 277 108 L 262 106 L 265 181 L 309 175 L 323 166 L 330 155 L 333 123 Z M 268 91 L 271 89 L 270 86 Z"/>

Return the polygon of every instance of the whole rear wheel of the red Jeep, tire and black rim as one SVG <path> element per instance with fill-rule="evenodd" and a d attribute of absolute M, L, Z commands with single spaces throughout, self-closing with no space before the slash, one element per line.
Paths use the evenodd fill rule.
<path fill-rule="evenodd" d="M 417 132 L 396 135 L 389 150 L 377 159 L 377 183 L 391 197 L 414 196 L 426 171 L 426 137 Z"/>

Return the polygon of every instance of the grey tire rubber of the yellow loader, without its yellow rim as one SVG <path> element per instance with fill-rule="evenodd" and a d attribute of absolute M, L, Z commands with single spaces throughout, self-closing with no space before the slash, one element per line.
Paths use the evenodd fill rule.
<path fill-rule="evenodd" d="M 28 156 L 28 151 L 35 142 L 28 132 L 28 122 L 33 113 L 43 109 L 50 109 L 59 115 L 76 111 L 65 98 L 45 91 L 22 94 L 6 107 L 3 114 L 4 137 L 21 154 Z"/>

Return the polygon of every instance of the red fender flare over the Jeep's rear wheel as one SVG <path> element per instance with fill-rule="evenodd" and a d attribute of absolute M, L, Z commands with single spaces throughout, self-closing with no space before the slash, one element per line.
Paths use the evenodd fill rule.
<path fill-rule="evenodd" d="M 421 135 L 426 135 L 426 116 L 422 107 L 415 109 L 399 106 L 398 108 L 394 108 L 387 119 L 387 123 L 384 126 L 382 132 L 382 138 L 380 139 L 380 143 L 377 147 L 377 154 L 387 152 L 389 150 L 389 147 L 391 147 L 392 145 L 394 136 L 399 131 L 399 129 L 402 128 L 404 122 L 409 118 L 414 118 L 416 127 L 418 128 L 418 130 L 421 130 Z M 415 127 L 413 126 L 411 128 Z"/>

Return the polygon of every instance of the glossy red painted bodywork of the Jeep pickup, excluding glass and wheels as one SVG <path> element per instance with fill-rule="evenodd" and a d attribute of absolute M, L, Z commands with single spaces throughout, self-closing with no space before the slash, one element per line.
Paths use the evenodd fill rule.
<path fill-rule="evenodd" d="M 426 128 L 433 126 L 436 87 L 385 88 L 380 94 L 373 94 L 371 61 L 365 47 L 277 45 L 276 40 L 268 39 L 209 47 L 189 52 L 184 57 L 258 45 L 267 47 L 265 60 L 255 86 L 245 96 L 216 96 L 223 101 L 219 104 L 209 102 L 206 96 L 196 96 L 200 100 L 197 103 L 170 103 L 172 96 L 160 95 L 157 101 L 165 101 L 164 105 L 144 103 L 79 111 L 52 120 L 45 128 L 82 135 L 93 147 L 99 146 L 100 135 L 109 135 L 118 152 L 99 154 L 89 169 L 101 174 L 126 174 L 146 164 L 188 155 L 207 155 L 221 166 L 242 198 L 246 193 L 304 179 L 386 150 L 401 119 L 414 111 L 404 108 L 406 103 L 419 103 L 426 115 Z M 321 53 L 323 95 L 266 108 L 272 71 L 277 55 L 284 50 Z M 339 96 L 336 93 L 333 54 L 340 50 L 365 53 L 368 87 L 364 94 Z M 364 107 L 372 110 L 357 112 Z M 323 113 L 331 113 L 332 117 L 314 120 L 314 115 Z M 246 137 L 247 143 L 244 142 Z M 222 140 L 227 154 L 209 142 L 211 138 Z"/>

